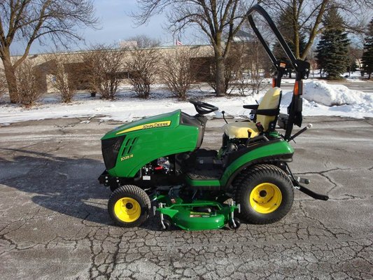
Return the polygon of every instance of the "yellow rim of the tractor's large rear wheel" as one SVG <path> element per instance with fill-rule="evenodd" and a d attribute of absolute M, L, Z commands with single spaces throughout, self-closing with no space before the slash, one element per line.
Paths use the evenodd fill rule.
<path fill-rule="evenodd" d="M 282 194 L 273 183 L 261 183 L 250 193 L 250 205 L 260 214 L 269 214 L 280 207 Z"/>

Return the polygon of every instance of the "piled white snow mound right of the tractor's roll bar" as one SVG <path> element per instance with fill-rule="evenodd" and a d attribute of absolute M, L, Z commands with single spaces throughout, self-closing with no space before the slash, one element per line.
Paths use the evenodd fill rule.
<path fill-rule="evenodd" d="M 323 80 L 312 80 L 304 83 L 304 99 L 325 106 L 370 104 L 373 94 L 350 90 L 345 85 L 330 85 Z"/>

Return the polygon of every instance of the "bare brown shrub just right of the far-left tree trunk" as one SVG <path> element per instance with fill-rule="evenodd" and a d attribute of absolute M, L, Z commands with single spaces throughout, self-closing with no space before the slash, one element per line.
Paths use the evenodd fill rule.
<path fill-rule="evenodd" d="M 15 71 L 17 79 L 16 102 L 29 108 L 35 104 L 42 91 L 38 85 L 38 68 L 34 60 L 25 59 Z"/>

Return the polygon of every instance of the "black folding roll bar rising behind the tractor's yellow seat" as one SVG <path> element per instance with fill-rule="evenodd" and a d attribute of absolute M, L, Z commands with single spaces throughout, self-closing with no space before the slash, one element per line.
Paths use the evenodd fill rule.
<path fill-rule="evenodd" d="M 258 4 L 252 6 L 250 10 L 248 10 L 248 13 L 246 13 L 246 17 L 248 18 L 248 22 L 250 23 L 251 28 L 253 28 L 255 35 L 258 36 L 260 43 L 262 43 L 263 47 L 265 48 L 265 51 L 267 52 L 267 55 L 276 67 L 277 73 L 276 78 L 274 78 L 274 87 L 281 86 L 281 78 L 286 71 L 286 63 L 281 62 L 280 59 L 276 59 L 272 50 L 269 48 L 267 42 L 263 38 L 262 34 L 260 34 L 260 31 L 256 27 L 253 19 L 253 13 L 255 12 L 262 15 L 262 17 L 267 21 L 269 28 L 272 29 L 274 35 L 276 36 L 277 40 L 281 45 L 281 48 L 283 48 L 284 52 L 290 59 L 290 64 L 293 66 L 296 73 L 293 98 L 291 100 L 290 105 L 288 106 L 289 118 L 284 137 L 287 141 L 290 141 L 293 126 L 297 125 L 300 127 L 302 125 L 302 79 L 308 78 L 310 64 L 309 62 L 305 62 L 301 59 L 295 58 L 293 52 L 289 48 L 288 43 L 286 43 L 286 41 L 283 39 L 283 36 L 281 35 L 279 29 L 277 29 L 276 25 L 274 25 L 272 18 L 269 17 L 265 9 L 259 6 Z"/>

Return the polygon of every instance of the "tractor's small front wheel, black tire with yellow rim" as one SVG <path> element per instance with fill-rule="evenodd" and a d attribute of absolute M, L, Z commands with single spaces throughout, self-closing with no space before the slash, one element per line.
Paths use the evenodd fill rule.
<path fill-rule="evenodd" d="M 137 186 L 120 186 L 108 199 L 108 214 L 113 221 L 125 228 L 141 225 L 150 211 L 150 199 Z"/>

